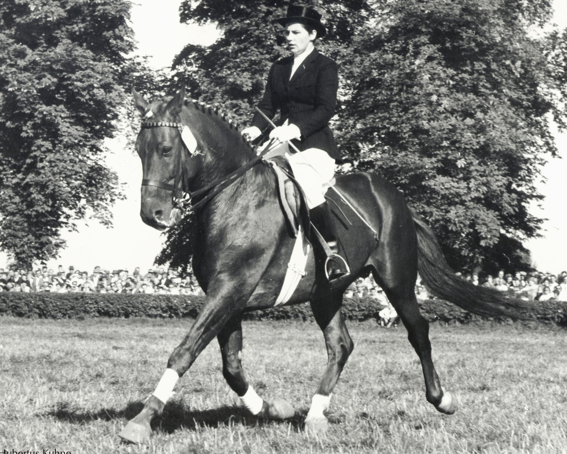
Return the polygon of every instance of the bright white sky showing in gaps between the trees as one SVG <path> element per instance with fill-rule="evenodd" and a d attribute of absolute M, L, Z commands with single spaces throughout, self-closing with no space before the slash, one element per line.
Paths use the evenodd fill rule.
<path fill-rule="evenodd" d="M 213 43 L 218 32 L 214 27 L 187 26 L 179 23 L 180 0 L 138 0 L 132 9 L 132 28 L 138 40 L 139 53 L 150 56 L 154 68 L 171 64 L 175 54 L 185 44 Z M 567 27 L 567 1 L 555 0 L 554 22 Z M 528 241 L 526 246 L 541 271 L 558 272 L 567 268 L 567 134 L 556 134 L 559 153 L 565 159 L 553 159 L 543 169 L 547 183 L 539 184 L 546 196 L 542 209 L 532 208 L 538 217 L 548 218 L 544 224 L 545 238 Z M 108 142 L 111 150 L 105 161 L 124 183 L 128 197 L 113 208 L 113 228 L 106 229 L 98 222 L 79 223 L 79 232 L 63 233 L 67 248 L 61 257 L 50 260 L 48 267 L 58 264 L 73 265 L 91 271 L 95 266 L 103 269 L 139 266 L 142 271 L 153 266 L 154 258 L 162 247 L 160 232 L 143 224 L 139 217 L 142 166 L 133 150 L 124 149 L 124 141 Z M 88 225 L 87 225 L 88 224 Z M 0 267 L 6 266 L 6 255 L 0 253 Z"/>

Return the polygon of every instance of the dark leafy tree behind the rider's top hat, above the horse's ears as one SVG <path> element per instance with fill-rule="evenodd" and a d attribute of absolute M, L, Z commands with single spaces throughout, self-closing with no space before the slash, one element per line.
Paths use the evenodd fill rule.
<path fill-rule="evenodd" d="M 373 14 L 363 0 L 315 3 L 318 7 L 323 4 L 328 29 L 318 48 L 332 57 L 337 57 Z M 289 54 L 284 29 L 273 22 L 286 15 L 288 5 L 287 0 L 181 3 L 182 22 L 213 22 L 223 35 L 206 48 L 187 45 L 174 60 L 175 82 L 184 82 L 195 98 L 221 103 L 236 119 L 249 121 L 253 106 L 264 93 L 270 66 Z"/>

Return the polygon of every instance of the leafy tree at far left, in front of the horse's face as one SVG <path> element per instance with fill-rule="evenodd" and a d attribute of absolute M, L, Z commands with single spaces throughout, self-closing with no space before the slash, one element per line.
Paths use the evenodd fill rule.
<path fill-rule="evenodd" d="M 101 153 L 126 100 L 129 9 L 124 0 L 0 3 L 0 249 L 17 264 L 57 257 L 61 229 L 76 220 L 111 223 L 121 194 Z"/>

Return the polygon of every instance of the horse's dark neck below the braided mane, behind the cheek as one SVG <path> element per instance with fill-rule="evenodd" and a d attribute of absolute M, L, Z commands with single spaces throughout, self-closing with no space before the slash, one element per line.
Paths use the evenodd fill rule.
<path fill-rule="evenodd" d="M 214 111 L 202 111 L 189 103 L 181 111 L 181 121 L 189 125 L 203 148 L 198 175 L 201 184 L 230 174 L 254 157 L 238 130 Z"/>

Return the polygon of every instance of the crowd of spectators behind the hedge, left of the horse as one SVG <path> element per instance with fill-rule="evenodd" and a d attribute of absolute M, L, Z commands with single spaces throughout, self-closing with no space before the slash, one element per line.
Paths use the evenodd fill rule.
<path fill-rule="evenodd" d="M 67 270 L 60 265 L 55 270 L 43 266 L 32 270 L 0 268 L 0 292 L 96 292 L 96 293 L 156 293 L 158 295 L 204 295 L 191 274 L 172 268 L 150 269 L 142 274 L 139 268 L 102 270 L 96 266 L 90 273 Z"/>

